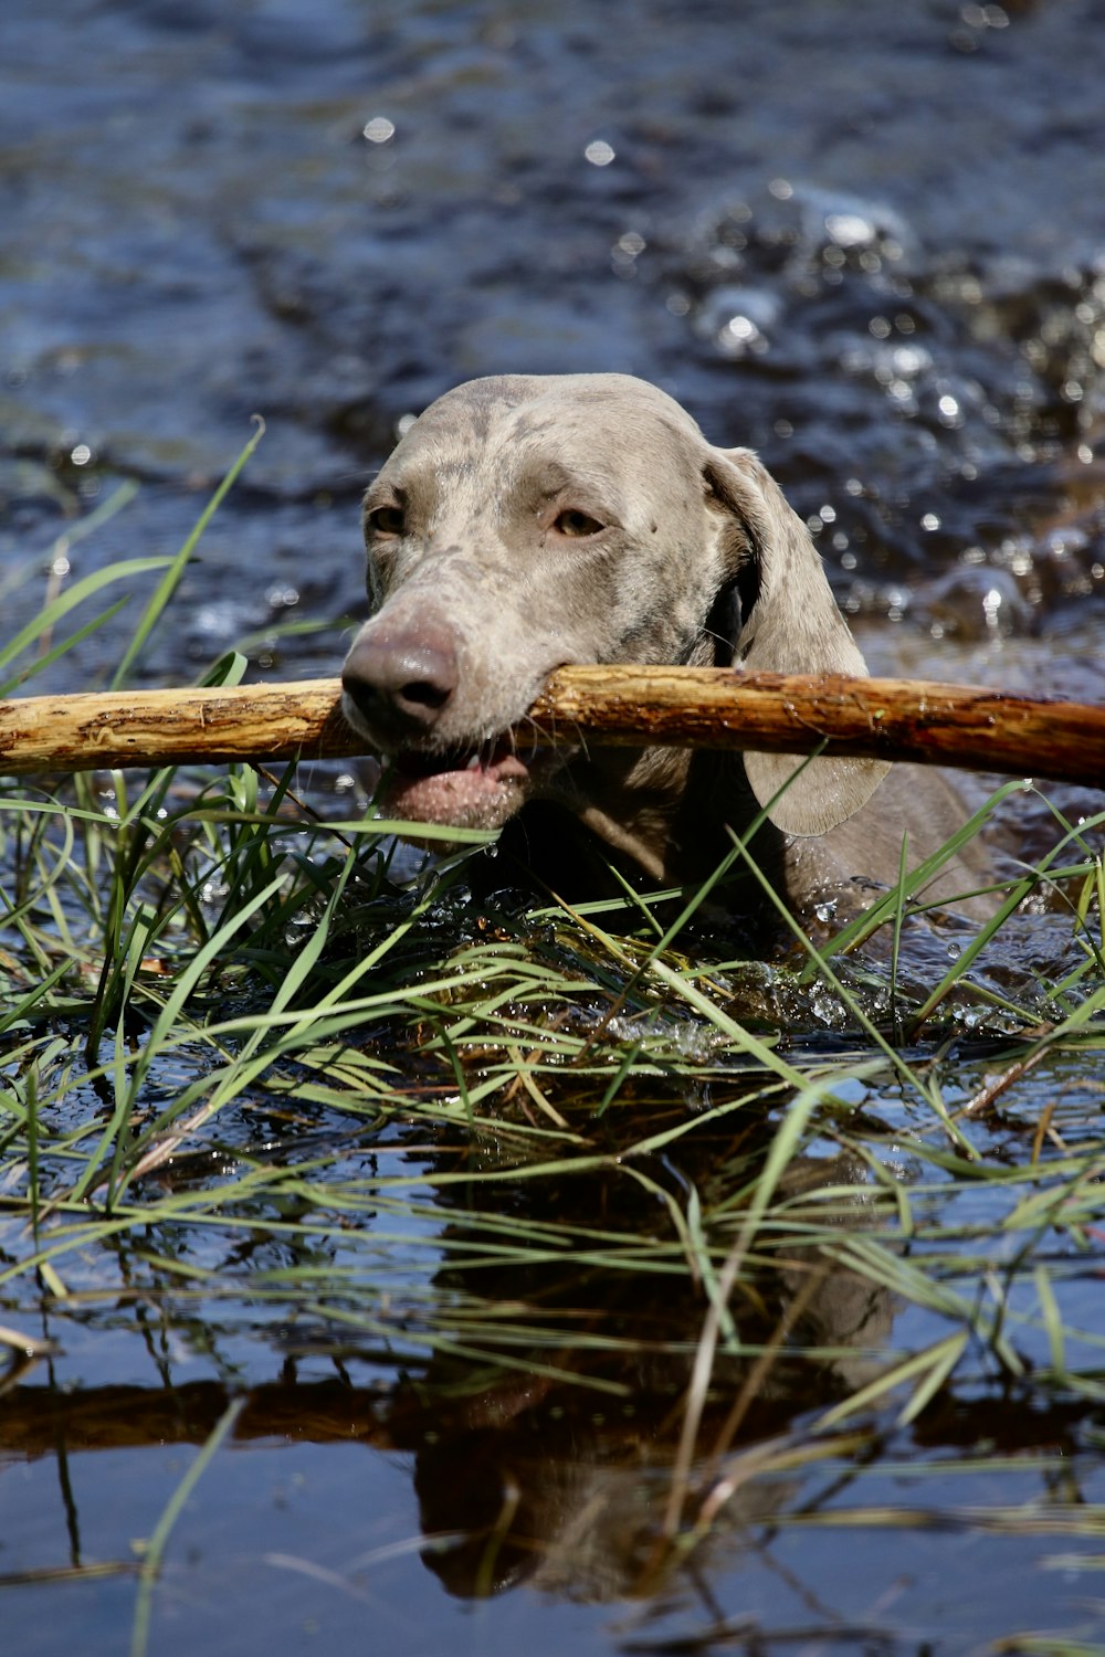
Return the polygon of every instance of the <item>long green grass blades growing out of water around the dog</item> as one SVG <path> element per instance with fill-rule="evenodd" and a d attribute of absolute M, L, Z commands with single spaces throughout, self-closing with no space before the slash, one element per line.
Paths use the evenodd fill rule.
<path fill-rule="evenodd" d="M 177 558 L 141 560 L 161 580 L 116 678 L 202 522 Z M 58 641 L 133 573 L 50 595 L 0 653 L 8 689 L 111 620 Z M 230 656 L 210 681 L 244 671 Z M 636 895 L 479 905 L 480 837 L 411 878 L 391 825 L 295 780 L 0 797 L 0 1389 L 48 1362 L 31 1324 L 141 1302 L 215 1354 L 278 1327 L 293 1359 L 417 1375 L 424 1399 L 525 1377 L 562 1410 L 633 1402 L 666 1423 L 659 1576 L 749 1478 L 830 1458 L 865 1488 L 873 1447 L 981 1395 L 1025 1423 L 1095 1418 L 1105 814 L 1054 807 L 1054 850 L 981 930 L 914 915 L 903 865 L 860 921 L 817 943 L 795 926 L 765 966 L 699 925 L 707 890 L 674 921 Z M 1037 959 L 1016 971 L 1025 925 Z M 189 1490 L 144 1553 L 134 1650 Z M 929 1523 L 888 1511 L 833 1498 L 779 1523 Z M 1100 1508 L 1002 1513 L 954 1523 L 1100 1553 Z"/>

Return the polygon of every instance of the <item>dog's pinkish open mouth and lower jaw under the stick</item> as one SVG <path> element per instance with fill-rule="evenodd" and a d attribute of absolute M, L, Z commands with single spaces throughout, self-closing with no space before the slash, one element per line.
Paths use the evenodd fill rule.
<path fill-rule="evenodd" d="M 519 749 L 509 737 L 437 752 L 401 749 L 384 772 L 378 805 L 406 822 L 500 828 L 525 800 L 552 749 Z"/>

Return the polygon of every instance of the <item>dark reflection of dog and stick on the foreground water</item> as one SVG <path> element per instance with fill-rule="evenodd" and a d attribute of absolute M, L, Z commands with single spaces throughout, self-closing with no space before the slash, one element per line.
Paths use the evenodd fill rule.
<path fill-rule="evenodd" d="M 807 1163 L 797 1178 L 820 1183 L 840 1173 Z M 603 1196 L 598 1188 L 586 1195 Z M 855 1223 L 861 1218 L 856 1205 Z M 466 1241 L 462 1221 L 451 1229 L 456 1243 Z M 1045 1410 L 1039 1400 L 1025 1408 L 1016 1387 L 944 1387 L 905 1442 L 886 1438 L 870 1417 L 812 1440 L 807 1427 L 817 1410 L 886 1362 L 895 1306 L 868 1279 L 800 1243 L 784 1239 L 775 1253 L 779 1263 L 750 1273 L 734 1301 L 739 1350 L 714 1367 L 686 1480 L 679 1442 L 702 1302 L 673 1304 L 661 1279 L 641 1284 L 639 1273 L 570 1263 L 472 1273 L 487 1316 L 532 1321 L 530 1367 L 497 1365 L 489 1349 L 479 1359 L 434 1357 L 393 1382 L 358 1380 L 373 1357 L 356 1339 L 315 1331 L 297 1342 L 290 1331 L 285 1339 L 298 1344 L 298 1357 L 287 1357 L 278 1379 L 244 1389 L 174 1382 L 169 1372 L 161 1385 L 8 1384 L 0 1453 L 55 1458 L 70 1491 L 58 1521 L 68 1514 L 68 1551 L 80 1568 L 84 1556 L 104 1559 L 113 1546 L 124 1548 L 134 1521 L 128 1508 L 106 1529 L 103 1516 L 89 1523 L 73 1495 L 75 1485 L 89 1488 L 73 1478 L 75 1458 L 202 1445 L 237 1394 L 239 1445 L 345 1445 L 409 1457 L 422 1561 L 451 1596 L 497 1596 L 527 1584 L 557 1599 L 610 1604 L 673 1592 L 697 1601 L 742 1553 L 759 1554 L 787 1516 L 832 1508 L 888 1450 L 901 1460 L 910 1443 L 953 1457 L 979 1447 L 1045 1448 L 1049 1457 L 1077 1448 L 1092 1403 L 1055 1399 Z M 464 1279 L 464 1269 L 442 1273 L 439 1294 L 456 1297 Z M 469 1309 L 477 1316 L 475 1302 Z M 550 1341 L 550 1331 L 560 1339 Z M 320 1374 L 326 1367 L 328 1377 Z M 311 1374 L 300 1377 L 300 1369 Z M 1025 1470 L 1030 1475 L 1030 1461 Z M 668 1534 L 673 1480 L 679 1524 Z M 131 1503 L 138 1500 L 136 1488 Z M 84 1506 L 96 1506 L 91 1495 Z M 924 1513 L 913 1523 L 923 1528 Z M 346 1513 L 346 1526 L 358 1533 L 355 1513 Z M 267 1529 L 262 1524 L 257 1548 Z M 237 1546 L 249 1549 L 250 1538 L 239 1536 Z"/>

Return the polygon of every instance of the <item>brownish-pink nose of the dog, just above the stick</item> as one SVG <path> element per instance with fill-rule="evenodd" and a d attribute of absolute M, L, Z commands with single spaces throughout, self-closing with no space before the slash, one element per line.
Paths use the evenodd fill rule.
<path fill-rule="evenodd" d="M 429 732 L 459 679 L 457 651 L 446 628 L 378 628 L 353 641 L 341 669 L 346 696 L 373 737 L 398 747 Z"/>

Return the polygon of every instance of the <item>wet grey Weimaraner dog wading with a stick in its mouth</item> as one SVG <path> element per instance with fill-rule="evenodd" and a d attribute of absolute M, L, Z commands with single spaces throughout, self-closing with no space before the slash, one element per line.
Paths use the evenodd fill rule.
<path fill-rule="evenodd" d="M 765 809 L 752 855 L 794 911 L 870 896 L 963 824 L 946 779 L 866 759 L 525 749 L 512 731 L 568 663 L 865 674 L 805 524 L 749 449 L 706 441 L 628 374 L 457 386 L 364 495 L 373 615 L 343 713 L 389 761 L 388 817 L 500 828 L 573 896 L 610 867 L 701 882 Z M 926 888 L 977 886 L 961 862 Z M 760 882 L 741 900 L 762 908 Z"/>

